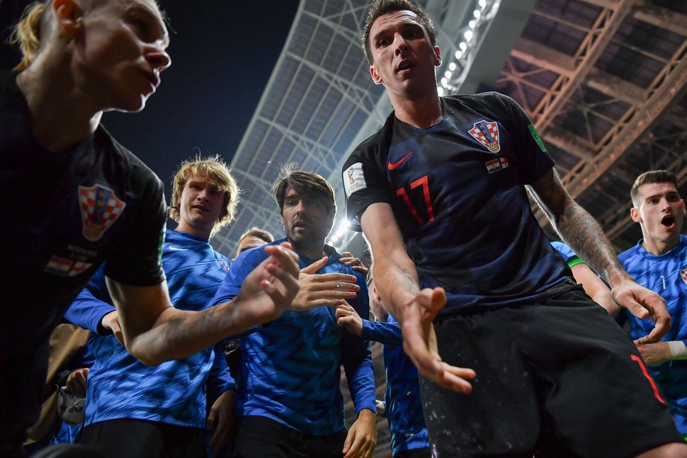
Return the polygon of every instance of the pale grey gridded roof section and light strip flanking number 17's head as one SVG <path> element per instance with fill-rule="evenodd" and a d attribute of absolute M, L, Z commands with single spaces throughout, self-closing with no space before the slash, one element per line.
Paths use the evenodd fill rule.
<path fill-rule="evenodd" d="M 369 0 L 302 0 L 283 50 L 249 127 L 231 163 L 244 190 L 237 220 L 217 234 L 213 245 L 232 253 L 242 232 L 257 226 L 283 234 L 271 183 L 281 164 L 295 162 L 322 174 L 334 185 L 339 202 L 336 233 L 331 242 L 344 248 L 353 233 L 346 230 L 341 166 L 353 147 L 375 132 L 392 110 L 382 86 L 370 78 L 360 47 Z M 454 59 L 454 81 L 470 84 L 473 74 L 491 73 L 495 81 L 529 17 L 534 0 L 517 3 L 516 19 L 496 13 L 495 0 L 424 0 L 419 4 L 435 19 L 443 55 L 453 56 L 460 42 L 469 42 L 461 60 Z M 478 11 L 475 17 L 474 11 Z M 472 23 L 470 23 L 472 21 Z M 502 21 L 492 57 L 472 62 L 489 40 L 494 21 Z M 464 35 L 470 30 L 471 40 Z M 453 59 L 453 57 L 452 57 Z M 447 64 L 448 65 L 448 64 Z M 476 72 L 468 71 L 474 67 Z M 448 67 L 447 67 L 448 68 Z M 444 71 L 438 75 L 441 79 Z M 454 83 L 456 84 L 456 83 Z M 475 84 L 475 86 L 477 86 Z M 451 86 L 455 87 L 455 86 Z M 448 93 L 448 88 L 442 88 Z"/>

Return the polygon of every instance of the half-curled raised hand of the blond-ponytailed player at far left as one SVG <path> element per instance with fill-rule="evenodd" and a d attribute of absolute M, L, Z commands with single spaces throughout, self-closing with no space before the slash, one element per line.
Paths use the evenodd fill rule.
<path fill-rule="evenodd" d="M 290 309 L 298 286 L 298 256 L 291 244 L 266 245 L 269 257 L 254 268 L 234 299 L 246 327 L 278 319 Z"/>

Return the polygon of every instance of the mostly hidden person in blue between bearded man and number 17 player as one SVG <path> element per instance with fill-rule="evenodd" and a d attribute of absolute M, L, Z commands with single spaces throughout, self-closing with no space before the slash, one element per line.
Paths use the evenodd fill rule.
<path fill-rule="evenodd" d="M 368 294 L 375 321 L 363 319 L 353 307 L 341 304 L 336 306 L 336 323 L 365 340 L 382 343 L 387 374 L 384 406 L 391 432 L 392 457 L 428 458 L 431 452 L 417 369 L 403 352 L 401 326 L 385 309 L 371 274 L 368 275 Z"/>

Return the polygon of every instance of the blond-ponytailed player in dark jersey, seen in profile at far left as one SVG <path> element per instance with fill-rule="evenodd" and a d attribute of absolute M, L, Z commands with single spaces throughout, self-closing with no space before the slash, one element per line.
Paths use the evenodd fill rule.
<path fill-rule="evenodd" d="M 271 246 L 237 302 L 172 307 L 162 183 L 101 126 L 105 111 L 142 110 L 171 63 L 154 0 L 36 1 L 14 36 L 23 60 L 0 72 L 3 457 L 38 418 L 50 333 L 103 262 L 127 348 L 149 364 L 273 319 L 298 287 L 295 256 Z"/>

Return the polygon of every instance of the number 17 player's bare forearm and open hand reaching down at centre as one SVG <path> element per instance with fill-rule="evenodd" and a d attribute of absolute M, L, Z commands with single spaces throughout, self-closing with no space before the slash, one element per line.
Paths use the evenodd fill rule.
<path fill-rule="evenodd" d="M 408 257 L 392 208 L 370 205 L 360 218 L 373 256 L 373 275 L 385 307 L 401 324 L 403 348 L 425 377 L 460 392 L 472 389 L 465 379 L 475 371 L 441 361 L 432 320 L 446 303 L 442 288 L 420 290 L 415 264 Z"/>

